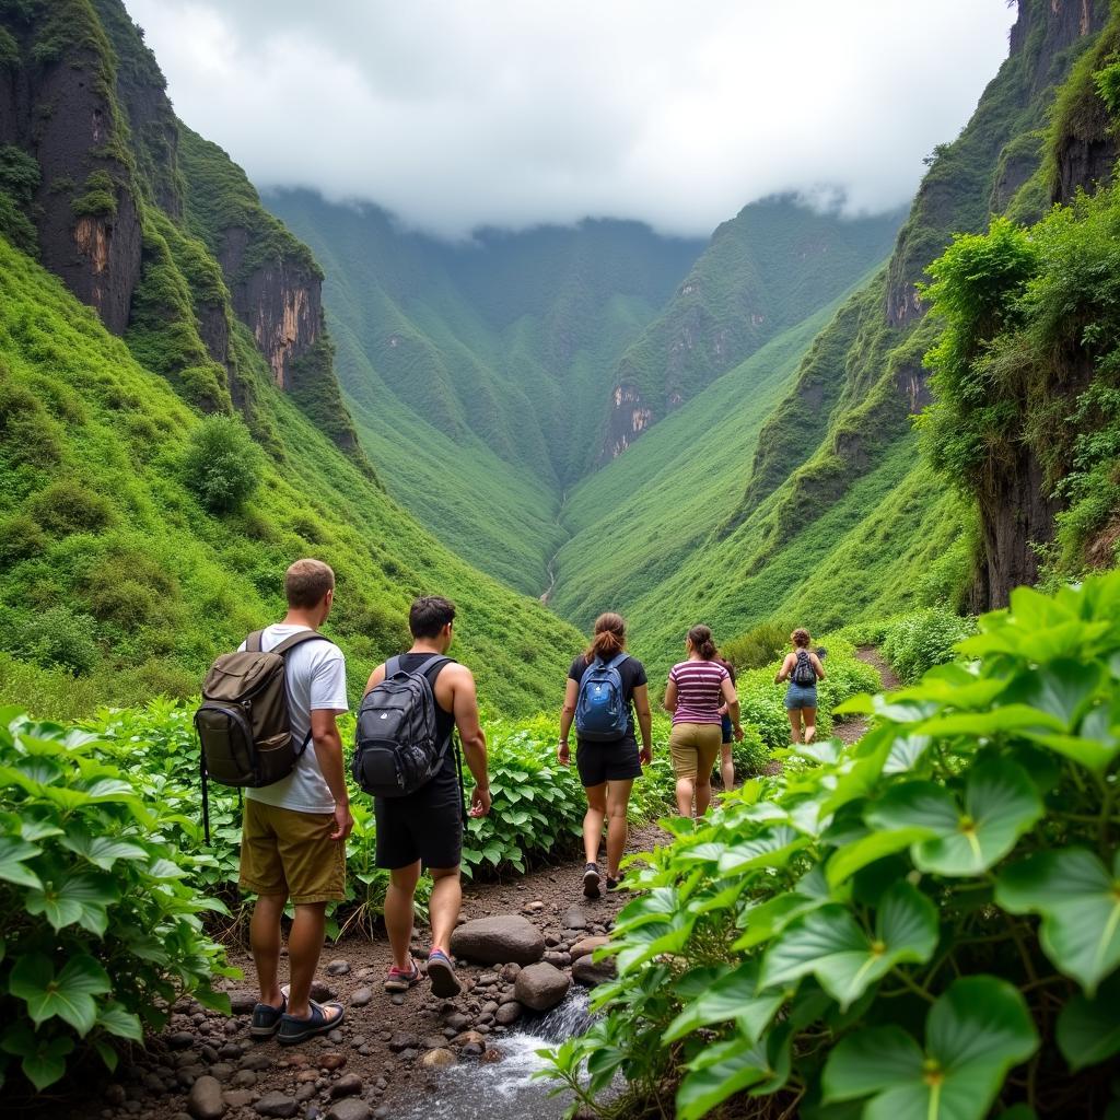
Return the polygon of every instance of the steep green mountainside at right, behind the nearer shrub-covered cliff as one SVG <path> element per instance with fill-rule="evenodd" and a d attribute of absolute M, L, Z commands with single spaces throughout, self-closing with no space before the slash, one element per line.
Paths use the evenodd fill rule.
<path fill-rule="evenodd" d="M 1010 55 L 958 140 L 937 149 L 887 269 L 842 304 L 766 422 L 759 427 L 754 401 L 765 383 L 750 363 L 692 402 L 708 422 L 721 409 L 744 418 L 738 469 L 708 480 L 689 475 L 690 449 L 702 444 L 682 409 L 584 482 L 566 508 L 573 536 L 559 558 L 558 608 L 578 622 L 607 606 L 627 612 L 646 653 L 668 659 L 682 627 L 699 619 L 729 637 L 767 617 L 821 628 L 936 599 L 983 609 L 1037 578 L 1033 542 L 1053 534 L 1055 512 L 1039 473 L 1029 463 L 1005 468 L 1018 486 L 1006 493 L 1021 501 L 1004 503 L 993 530 L 918 455 L 909 417 L 928 402 L 923 355 L 941 323 L 924 314 L 915 283 L 954 233 L 983 230 L 1008 207 L 1037 220 L 1051 199 L 1066 199 L 1110 166 L 1108 128 L 1084 111 L 1082 72 L 1101 59 L 1077 66 L 1111 49 L 1100 35 L 1108 20 L 1105 2 L 1021 0 Z M 682 450 L 657 456 L 657 435 Z M 661 468 L 633 504 L 612 491 L 627 458 L 634 478 L 654 460 Z M 693 503 L 696 517 L 683 516 Z M 628 531 L 612 550 L 619 505 Z M 1027 516 L 1030 508 L 1042 512 Z M 999 548 L 980 549 L 990 533 Z"/>

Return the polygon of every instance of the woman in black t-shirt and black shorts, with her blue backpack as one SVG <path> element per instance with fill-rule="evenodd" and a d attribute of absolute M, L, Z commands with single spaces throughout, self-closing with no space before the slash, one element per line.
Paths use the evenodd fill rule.
<path fill-rule="evenodd" d="M 634 735 L 634 713 L 642 729 L 642 749 Z M 595 619 L 595 637 L 568 671 L 560 711 L 557 760 L 571 764 L 568 735 L 576 724 L 576 767 L 587 794 L 584 815 L 584 894 L 598 898 L 599 843 L 607 822 L 607 889 L 618 886 L 618 864 L 626 850 L 626 806 L 634 778 L 653 758 L 650 688 L 642 662 L 626 653 L 626 623 L 620 615 Z"/>

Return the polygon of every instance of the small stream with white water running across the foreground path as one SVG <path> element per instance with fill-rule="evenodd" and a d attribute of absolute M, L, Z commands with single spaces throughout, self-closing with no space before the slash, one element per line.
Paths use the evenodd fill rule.
<path fill-rule="evenodd" d="M 591 1023 L 587 992 L 575 991 L 547 1015 L 493 1038 L 500 1062 L 461 1062 L 442 1071 L 419 1098 L 394 1110 L 401 1120 L 561 1120 L 568 1094 L 550 1096 L 556 1082 L 534 1081 L 544 1068 L 536 1051 L 585 1032 Z"/>

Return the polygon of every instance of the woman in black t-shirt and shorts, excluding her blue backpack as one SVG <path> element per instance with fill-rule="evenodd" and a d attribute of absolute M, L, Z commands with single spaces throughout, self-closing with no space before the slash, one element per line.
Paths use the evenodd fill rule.
<path fill-rule="evenodd" d="M 623 682 L 623 699 L 626 703 L 626 730 L 622 738 L 609 743 L 586 741 L 577 732 L 576 766 L 579 780 L 587 793 L 587 813 L 584 816 L 584 849 L 587 867 L 584 871 L 584 894 L 588 898 L 599 897 L 599 843 L 603 840 L 603 822 L 607 821 L 607 889 L 618 883 L 618 864 L 626 850 L 626 806 L 629 803 L 634 778 L 640 777 L 642 767 L 653 757 L 651 738 L 650 690 L 645 669 L 636 657 L 626 654 L 626 623 L 620 615 L 599 615 L 595 619 L 595 637 L 590 648 L 581 653 L 568 673 L 568 689 L 563 709 L 560 712 L 560 743 L 557 759 L 561 765 L 571 763 L 568 750 L 568 732 L 576 717 L 576 701 L 584 674 L 596 660 L 609 662 L 620 654 L 624 660 L 616 669 Z M 634 712 L 642 730 L 642 749 L 637 748 L 634 735 Z"/>

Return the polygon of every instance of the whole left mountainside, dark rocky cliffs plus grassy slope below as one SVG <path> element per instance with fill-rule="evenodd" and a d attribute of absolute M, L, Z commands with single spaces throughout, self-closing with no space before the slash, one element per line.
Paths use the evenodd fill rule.
<path fill-rule="evenodd" d="M 311 553 L 355 694 L 440 591 L 484 701 L 552 702 L 579 635 L 376 483 L 319 267 L 176 120 L 118 0 L 0 3 L 0 700 L 193 692 Z"/>

